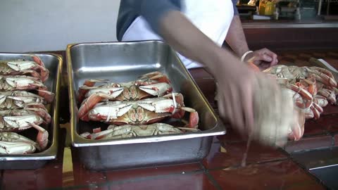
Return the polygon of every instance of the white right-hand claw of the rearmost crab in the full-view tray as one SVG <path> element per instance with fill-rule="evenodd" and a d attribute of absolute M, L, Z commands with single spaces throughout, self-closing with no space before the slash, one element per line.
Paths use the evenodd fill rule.
<path fill-rule="evenodd" d="M 140 86 L 139 89 L 142 91 L 145 91 L 148 94 L 151 94 L 152 96 L 163 96 L 164 94 L 168 94 L 171 91 L 173 91 L 173 87 L 171 87 L 170 84 L 166 82 L 159 82 L 156 84 L 148 84 L 144 86 Z"/>

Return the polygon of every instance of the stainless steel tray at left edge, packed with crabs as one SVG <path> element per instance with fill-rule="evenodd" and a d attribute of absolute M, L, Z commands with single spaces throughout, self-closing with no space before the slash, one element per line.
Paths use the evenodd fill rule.
<path fill-rule="evenodd" d="M 44 82 L 49 91 L 55 93 L 55 99 L 46 108 L 52 120 L 47 127 L 49 144 L 45 151 L 26 155 L 0 155 L 0 170 L 35 170 L 42 167 L 48 160 L 56 158 L 58 152 L 58 91 L 60 89 L 62 57 L 53 53 L 0 53 L 0 60 L 23 58 L 27 55 L 37 55 L 49 69 L 49 79 Z M 25 137 L 35 139 L 37 131 L 27 129 L 22 132 Z"/>

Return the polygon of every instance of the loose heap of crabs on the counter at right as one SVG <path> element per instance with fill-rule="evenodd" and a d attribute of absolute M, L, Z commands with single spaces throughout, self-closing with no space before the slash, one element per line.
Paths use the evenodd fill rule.
<path fill-rule="evenodd" d="M 266 74 L 277 80 L 282 90 L 294 100 L 295 107 L 301 114 L 298 125 L 289 131 L 289 139 L 299 140 L 303 136 L 306 119 L 318 119 L 328 103 L 337 105 L 337 81 L 332 72 L 318 67 L 297 67 L 275 65 Z"/>

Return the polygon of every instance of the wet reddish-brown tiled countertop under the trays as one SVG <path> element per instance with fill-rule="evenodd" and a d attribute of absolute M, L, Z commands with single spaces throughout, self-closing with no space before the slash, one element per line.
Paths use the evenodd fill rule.
<path fill-rule="evenodd" d="M 58 53 L 64 56 L 63 51 Z M 302 65 L 314 56 L 325 58 L 338 68 L 338 51 L 280 51 L 277 54 L 280 64 Z M 203 69 L 190 72 L 217 111 L 213 77 Z M 61 106 L 61 110 L 67 108 L 66 103 Z M 210 153 L 200 163 L 92 172 L 80 164 L 76 150 L 72 149 L 70 157 L 73 159 L 65 156 L 65 163 L 73 163 L 73 167 L 65 170 L 65 129 L 61 129 L 58 158 L 39 170 L 1 171 L 1 189 L 326 189 L 308 172 L 303 164 L 306 162 L 294 161 L 294 153 L 338 146 L 338 106 L 327 106 L 324 110 L 319 120 L 306 122 L 301 141 L 290 141 L 284 149 L 253 142 L 246 167 L 241 167 L 246 141 L 228 129 L 224 136 L 214 138 Z M 68 114 L 63 112 L 61 123 L 68 121 Z"/>

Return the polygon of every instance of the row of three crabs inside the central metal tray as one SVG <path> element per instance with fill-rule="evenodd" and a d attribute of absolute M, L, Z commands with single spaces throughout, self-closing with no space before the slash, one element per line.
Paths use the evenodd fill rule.
<path fill-rule="evenodd" d="M 96 83 L 104 83 L 94 86 Z M 162 72 L 149 72 L 132 82 L 112 83 L 108 80 L 87 80 L 79 88 L 81 103 L 78 117 L 83 121 L 109 124 L 108 129 L 93 129 L 80 134 L 87 139 L 120 139 L 158 134 L 198 131 L 199 114 L 184 106 L 184 97 Z M 165 118 L 184 118 L 186 125 L 174 127 L 163 123 Z"/>

